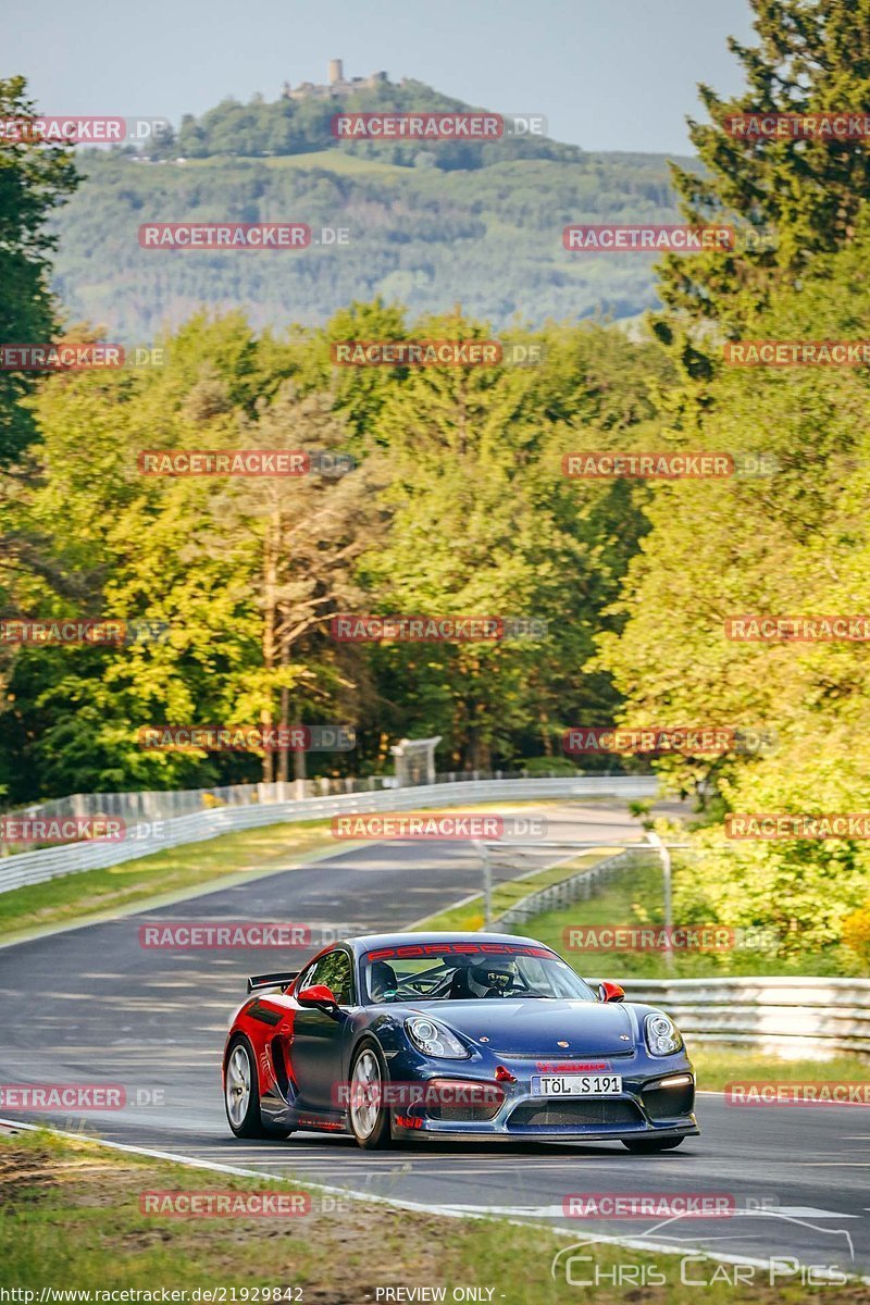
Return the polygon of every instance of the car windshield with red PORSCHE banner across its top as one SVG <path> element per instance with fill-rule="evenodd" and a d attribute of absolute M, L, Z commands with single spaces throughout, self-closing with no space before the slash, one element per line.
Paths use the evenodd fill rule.
<path fill-rule="evenodd" d="M 596 1001 L 588 984 L 552 951 L 519 945 L 378 947 L 363 958 L 363 987 L 367 1001 L 377 1005 L 505 997 Z"/>

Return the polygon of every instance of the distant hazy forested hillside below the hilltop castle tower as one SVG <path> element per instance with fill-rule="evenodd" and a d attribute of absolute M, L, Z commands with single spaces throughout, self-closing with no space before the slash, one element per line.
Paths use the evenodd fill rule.
<path fill-rule="evenodd" d="M 350 103 L 370 107 L 373 94 Z M 335 106 L 307 103 L 317 127 L 284 137 L 293 153 L 280 153 L 275 121 L 288 104 L 227 103 L 200 123 L 185 119 L 163 150 L 172 157 L 82 154 L 86 180 L 57 218 L 55 288 L 70 318 L 141 341 L 202 304 L 241 307 L 256 326 L 278 328 L 317 324 L 376 295 L 412 315 L 462 303 L 497 328 L 517 315 L 622 318 L 655 304 L 651 257 L 567 253 L 561 232 L 569 222 L 676 221 L 663 155 L 587 154 L 545 138 L 423 151 L 420 142 L 339 142 L 327 128 L 323 136 L 322 115 Z M 457 102 L 436 97 L 433 107 L 447 106 Z M 211 153 L 230 144 L 236 153 Z M 147 221 L 222 219 L 346 227 L 350 243 L 220 253 L 138 245 Z"/>

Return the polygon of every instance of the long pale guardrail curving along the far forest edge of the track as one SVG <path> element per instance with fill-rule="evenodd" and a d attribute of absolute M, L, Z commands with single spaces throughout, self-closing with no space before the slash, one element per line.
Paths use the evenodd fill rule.
<path fill-rule="evenodd" d="M 303 801 L 219 806 L 175 820 L 136 825 L 121 842 L 67 843 L 34 852 L 21 852 L 0 860 L 0 893 L 43 883 L 61 874 L 106 869 L 141 856 L 163 852 L 185 843 L 198 843 L 220 834 L 232 834 L 263 825 L 291 821 L 330 820 L 333 816 L 373 812 L 415 810 L 420 806 L 453 806 L 459 803 L 511 801 L 558 797 L 653 797 L 659 782 L 655 776 L 595 775 L 566 779 L 481 779 L 458 780 L 453 784 L 423 784 L 383 792 L 343 793 L 310 797 Z"/>

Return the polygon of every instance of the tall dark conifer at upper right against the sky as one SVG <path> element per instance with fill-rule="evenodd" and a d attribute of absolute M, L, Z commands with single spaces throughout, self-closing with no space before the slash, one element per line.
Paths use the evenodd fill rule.
<path fill-rule="evenodd" d="M 776 284 L 797 286 L 818 254 L 852 241 L 870 191 L 865 138 L 768 140 L 725 128 L 730 115 L 753 112 L 863 116 L 870 104 L 870 0 L 751 5 L 758 43 L 729 40 L 745 69 L 746 90 L 721 99 L 702 85 L 712 121 L 690 120 L 690 137 L 704 170 L 672 164 L 686 221 L 734 222 L 738 248 L 668 254 L 659 269 L 661 296 L 672 311 L 695 322 L 720 321 L 729 331 L 737 331 Z M 760 240 L 750 239 L 753 234 Z M 659 329 L 672 334 L 673 317 Z"/>

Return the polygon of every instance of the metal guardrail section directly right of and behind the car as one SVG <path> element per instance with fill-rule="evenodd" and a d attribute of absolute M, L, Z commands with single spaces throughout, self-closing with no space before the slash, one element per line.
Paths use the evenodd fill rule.
<path fill-rule="evenodd" d="M 631 1001 L 667 1010 L 690 1045 L 743 1043 L 811 1060 L 837 1052 L 870 1056 L 870 979 L 617 977 L 617 983 Z"/>

